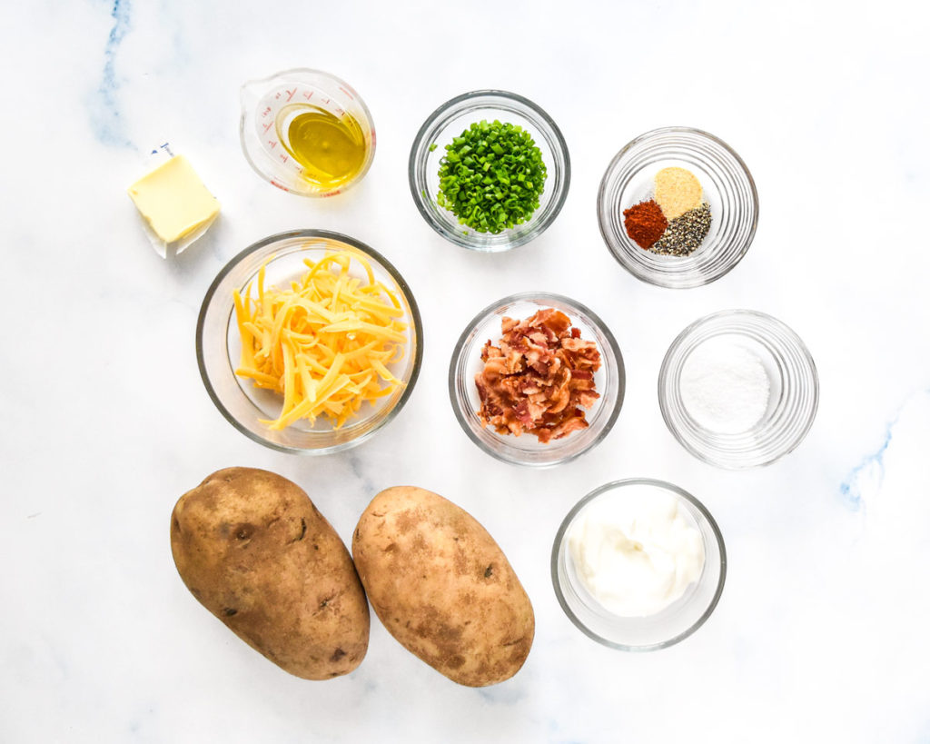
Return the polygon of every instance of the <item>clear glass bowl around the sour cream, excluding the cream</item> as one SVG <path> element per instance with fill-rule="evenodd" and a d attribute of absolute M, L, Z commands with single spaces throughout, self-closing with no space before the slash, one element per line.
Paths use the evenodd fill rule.
<path fill-rule="evenodd" d="M 644 489 L 677 499 L 685 518 L 703 538 L 704 567 L 697 581 L 668 607 L 655 615 L 627 618 L 608 611 L 585 588 L 568 550 L 568 535 L 578 515 L 595 499 L 603 503 L 629 498 L 636 491 L 642 494 Z M 565 615 L 585 635 L 621 651 L 655 651 L 683 641 L 711 617 L 724 591 L 726 550 L 720 528 L 697 498 L 671 483 L 631 478 L 594 489 L 565 515 L 552 544 L 551 573 L 555 596 Z"/>

